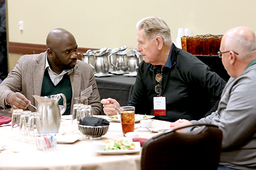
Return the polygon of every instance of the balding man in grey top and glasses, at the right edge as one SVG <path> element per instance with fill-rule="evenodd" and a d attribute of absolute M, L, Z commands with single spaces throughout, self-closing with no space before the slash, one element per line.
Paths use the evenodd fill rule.
<path fill-rule="evenodd" d="M 221 169 L 256 169 L 256 38 L 246 27 L 233 28 L 221 40 L 219 57 L 231 77 L 223 89 L 218 110 L 200 120 L 172 123 L 172 129 L 209 123 L 223 133 Z M 180 132 L 191 132 L 186 128 Z"/>

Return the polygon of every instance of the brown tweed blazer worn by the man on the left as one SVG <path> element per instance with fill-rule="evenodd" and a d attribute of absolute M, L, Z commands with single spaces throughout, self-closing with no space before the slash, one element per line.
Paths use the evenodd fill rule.
<path fill-rule="evenodd" d="M 24 55 L 20 57 L 14 69 L 8 77 L 0 84 L 0 105 L 6 109 L 5 96 L 8 92 L 21 92 L 37 106 L 37 102 L 32 95 L 40 95 L 42 80 L 44 79 L 46 65 L 46 52 L 34 55 Z M 86 62 L 77 60 L 74 71 L 70 74 L 72 86 L 71 111 L 73 109 L 74 98 L 79 96 L 80 90 L 90 86 L 93 87 L 93 94 L 88 98 L 88 104 L 92 106 L 93 114 L 100 114 L 100 96 L 96 85 L 92 67 Z M 35 111 L 31 106 L 28 110 Z"/>

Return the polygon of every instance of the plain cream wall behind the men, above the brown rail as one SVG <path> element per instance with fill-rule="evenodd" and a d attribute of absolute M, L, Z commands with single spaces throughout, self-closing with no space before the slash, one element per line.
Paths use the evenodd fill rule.
<path fill-rule="evenodd" d="M 7 0 L 9 41 L 45 44 L 55 28 L 70 31 L 80 47 L 136 48 L 138 20 L 159 16 L 172 30 L 189 28 L 191 35 L 224 34 L 247 26 L 256 31 L 255 0 Z M 24 21 L 24 31 L 18 21 Z"/>

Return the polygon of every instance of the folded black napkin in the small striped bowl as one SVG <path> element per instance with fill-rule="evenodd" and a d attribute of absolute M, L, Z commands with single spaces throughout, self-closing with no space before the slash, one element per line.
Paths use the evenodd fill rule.
<path fill-rule="evenodd" d="M 79 120 L 79 124 L 84 126 L 106 126 L 109 125 L 110 122 L 99 117 L 83 117 Z"/>

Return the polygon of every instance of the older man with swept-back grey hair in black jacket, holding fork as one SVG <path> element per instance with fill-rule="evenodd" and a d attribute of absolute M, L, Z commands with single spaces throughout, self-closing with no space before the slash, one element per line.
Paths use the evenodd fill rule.
<path fill-rule="evenodd" d="M 211 109 L 211 99 L 219 100 L 226 84 L 215 72 L 190 53 L 177 48 L 167 23 L 147 17 L 137 23 L 137 51 L 140 63 L 129 106 L 137 114 L 155 115 L 174 122 L 179 118 L 200 119 Z M 114 99 L 102 99 L 106 115 L 117 114 Z"/>

